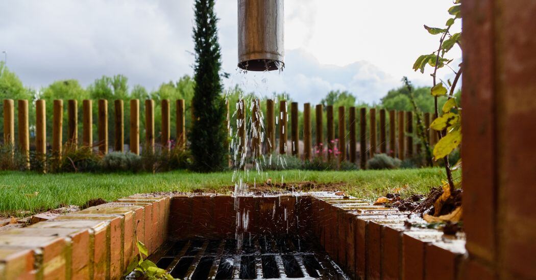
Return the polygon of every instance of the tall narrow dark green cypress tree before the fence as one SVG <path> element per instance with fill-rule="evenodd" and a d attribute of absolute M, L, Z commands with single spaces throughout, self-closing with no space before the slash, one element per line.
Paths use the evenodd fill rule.
<path fill-rule="evenodd" d="M 220 80 L 221 53 L 214 2 L 195 1 L 193 41 L 196 61 L 190 150 L 192 169 L 198 172 L 218 171 L 227 165 L 226 106 Z"/>

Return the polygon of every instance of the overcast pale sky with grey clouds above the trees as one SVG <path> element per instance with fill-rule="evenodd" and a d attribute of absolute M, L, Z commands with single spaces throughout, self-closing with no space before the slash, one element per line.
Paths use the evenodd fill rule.
<path fill-rule="evenodd" d="M 285 70 L 239 74 L 236 0 L 218 0 L 226 86 L 259 95 L 286 91 L 317 103 L 329 90 L 351 91 L 377 102 L 413 72 L 415 59 L 437 48 L 422 25 L 443 27 L 450 0 L 286 0 Z M 192 74 L 192 0 L 1 0 L 0 51 L 8 67 L 33 88 L 123 74 L 148 90 Z M 436 35 L 439 36 L 439 35 Z M 3 54 L 2 54 L 3 55 Z M 459 61 L 460 52 L 450 58 Z M 4 57 L 2 56 L 3 60 Z M 452 76 L 445 69 L 443 77 Z"/>

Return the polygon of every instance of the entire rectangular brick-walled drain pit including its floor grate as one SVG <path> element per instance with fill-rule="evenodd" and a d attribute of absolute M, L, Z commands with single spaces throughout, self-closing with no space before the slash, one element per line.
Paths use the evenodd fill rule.
<path fill-rule="evenodd" d="M 337 267 L 351 279 L 461 279 L 464 236 L 406 228 L 405 220 L 405 213 L 327 192 L 236 200 L 135 195 L 2 232 L 0 280 L 123 278 L 137 260 L 135 232 L 159 266 L 193 279 L 205 276 L 196 274 L 196 267 L 210 267 L 199 270 L 209 279 L 225 279 L 229 270 L 222 267 L 218 276 L 220 263 L 230 263 L 225 258 L 231 256 L 230 279 L 251 277 L 254 270 L 257 278 L 277 272 L 281 278 L 296 273 L 310 279 L 315 270 L 317 278 L 337 279 L 342 275 Z M 412 222 L 423 221 L 412 217 Z M 243 248 L 252 251 L 226 253 L 237 228 Z M 270 240 L 270 252 L 262 249 L 263 237 Z M 296 240 L 308 249 L 296 250 Z M 263 271 L 263 262 L 278 269 Z M 292 269 L 296 263 L 300 269 Z"/>

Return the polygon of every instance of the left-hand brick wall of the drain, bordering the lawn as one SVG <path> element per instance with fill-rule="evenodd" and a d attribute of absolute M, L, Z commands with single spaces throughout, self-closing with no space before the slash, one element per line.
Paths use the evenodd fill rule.
<path fill-rule="evenodd" d="M 0 280 L 119 279 L 165 240 L 170 196 L 134 195 L 0 234 Z M 136 222 L 136 221 L 139 221 Z"/>

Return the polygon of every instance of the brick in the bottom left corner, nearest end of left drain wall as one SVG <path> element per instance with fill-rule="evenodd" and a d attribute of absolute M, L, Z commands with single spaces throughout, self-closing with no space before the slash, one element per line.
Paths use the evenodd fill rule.
<path fill-rule="evenodd" d="M 0 247 L 0 279 L 33 279 L 34 252 L 29 249 Z"/>

